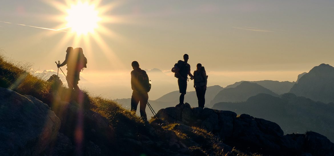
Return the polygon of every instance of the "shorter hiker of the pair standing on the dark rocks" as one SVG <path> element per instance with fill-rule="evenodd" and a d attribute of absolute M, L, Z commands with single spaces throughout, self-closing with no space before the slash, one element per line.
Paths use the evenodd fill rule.
<path fill-rule="evenodd" d="M 198 99 L 198 107 L 204 108 L 207 76 L 202 64 L 197 64 L 196 67 L 197 69 L 194 71 L 194 87 Z"/>

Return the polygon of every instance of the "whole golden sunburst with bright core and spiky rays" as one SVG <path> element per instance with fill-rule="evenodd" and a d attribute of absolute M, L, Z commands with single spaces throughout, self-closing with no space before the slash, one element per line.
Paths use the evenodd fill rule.
<path fill-rule="evenodd" d="M 42 15 L 50 22 L 61 23 L 57 27 L 52 28 L 55 31 L 49 34 L 55 35 L 59 33 L 57 31 L 71 32 L 63 32 L 64 37 L 53 48 L 53 52 L 57 51 L 55 55 L 63 52 L 64 48 L 68 46 L 73 48 L 81 47 L 86 52 L 86 55 L 91 58 L 93 66 L 95 65 L 94 63 L 98 64 L 96 58 L 104 56 L 104 58 L 108 59 L 112 69 L 125 69 L 117 53 L 113 51 L 105 40 L 108 38 L 121 44 L 127 42 L 124 36 L 110 30 L 105 25 L 107 23 L 124 24 L 133 22 L 133 19 L 135 19 L 133 16 L 110 15 L 113 9 L 126 3 L 125 1 L 113 1 L 105 4 L 102 0 L 49 0 L 47 3 L 62 13 L 61 15 Z M 93 49 L 96 47 L 100 50 Z M 100 56 L 96 55 L 96 53 L 100 53 Z"/>

